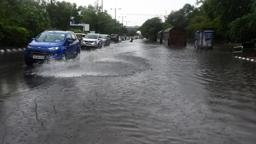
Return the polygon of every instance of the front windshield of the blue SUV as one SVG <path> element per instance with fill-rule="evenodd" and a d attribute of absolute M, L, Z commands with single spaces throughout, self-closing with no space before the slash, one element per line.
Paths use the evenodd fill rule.
<path fill-rule="evenodd" d="M 64 41 L 65 34 L 59 33 L 42 33 L 37 36 L 35 41 L 45 41 L 45 42 L 61 42 Z"/>

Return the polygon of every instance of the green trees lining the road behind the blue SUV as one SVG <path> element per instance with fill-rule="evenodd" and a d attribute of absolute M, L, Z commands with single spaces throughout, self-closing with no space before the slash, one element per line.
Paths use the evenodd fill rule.
<path fill-rule="evenodd" d="M 91 31 L 101 34 L 134 34 L 106 10 L 101 12 L 98 1 L 78 6 L 57 0 L 52 5 L 49 0 L 0 0 L 0 46 L 24 46 L 47 29 L 71 30 L 70 22 L 90 24 Z"/>

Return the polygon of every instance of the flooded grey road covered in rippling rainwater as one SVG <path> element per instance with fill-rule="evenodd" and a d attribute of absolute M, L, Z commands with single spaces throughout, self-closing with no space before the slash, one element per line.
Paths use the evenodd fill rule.
<path fill-rule="evenodd" d="M 255 144 L 255 63 L 134 40 L 27 68 L 0 55 L 2 144 Z"/>

